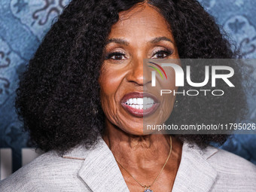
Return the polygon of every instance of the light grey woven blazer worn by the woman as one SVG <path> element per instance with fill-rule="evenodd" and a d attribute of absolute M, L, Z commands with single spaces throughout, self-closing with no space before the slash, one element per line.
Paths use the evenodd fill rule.
<path fill-rule="evenodd" d="M 114 156 L 100 139 L 92 150 L 81 146 L 63 158 L 54 151 L 42 154 L 0 182 L 0 191 L 128 192 Z M 182 147 L 173 192 L 256 191 L 256 166 L 247 160 L 208 147 Z"/>

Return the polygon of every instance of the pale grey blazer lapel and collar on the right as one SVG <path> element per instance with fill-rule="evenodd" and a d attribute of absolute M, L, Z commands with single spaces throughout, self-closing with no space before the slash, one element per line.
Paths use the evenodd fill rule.
<path fill-rule="evenodd" d="M 217 172 L 207 162 L 218 151 L 217 148 L 208 147 L 201 151 L 197 145 L 190 148 L 187 142 L 182 147 L 181 163 L 175 178 L 172 192 L 209 191 L 215 182 Z"/>

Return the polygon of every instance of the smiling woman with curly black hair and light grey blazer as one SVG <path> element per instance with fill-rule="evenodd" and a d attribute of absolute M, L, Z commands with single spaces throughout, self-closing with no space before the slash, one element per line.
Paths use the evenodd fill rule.
<path fill-rule="evenodd" d="M 233 66 L 239 90 L 207 99 L 166 96 L 145 116 L 141 98 L 148 105 L 157 99 L 143 59 L 234 56 L 194 0 L 71 2 L 17 90 L 20 117 L 46 153 L 2 181 L 0 190 L 255 191 L 253 164 L 209 146 L 227 136 L 143 132 L 143 120 L 159 123 L 170 114 L 175 123 L 233 122 L 246 110 L 242 69 Z M 169 88 L 178 90 L 174 71 L 167 73 Z"/>

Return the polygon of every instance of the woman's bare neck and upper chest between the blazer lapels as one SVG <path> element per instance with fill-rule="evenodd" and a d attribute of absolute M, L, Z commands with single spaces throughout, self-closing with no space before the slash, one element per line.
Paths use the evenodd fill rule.
<path fill-rule="evenodd" d="M 152 190 L 172 190 L 181 160 L 181 141 L 172 137 L 172 153 L 166 161 L 170 150 L 168 135 L 135 136 L 107 120 L 103 139 L 119 162 L 120 172 L 130 191 L 142 190 L 138 181 L 146 186 L 153 184 Z"/>

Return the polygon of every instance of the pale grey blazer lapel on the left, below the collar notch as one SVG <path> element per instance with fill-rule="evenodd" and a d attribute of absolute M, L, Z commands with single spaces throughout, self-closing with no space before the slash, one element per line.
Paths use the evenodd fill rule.
<path fill-rule="evenodd" d="M 117 162 L 103 139 L 88 151 L 78 176 L 93 192 L 129 192 Z"/>

